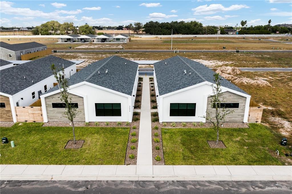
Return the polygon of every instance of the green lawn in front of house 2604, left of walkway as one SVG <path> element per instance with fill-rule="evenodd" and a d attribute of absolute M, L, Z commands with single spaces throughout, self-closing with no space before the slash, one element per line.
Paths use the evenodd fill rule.
<path fill-rule="evenodd" d="M 73 139 L 71 127 L 41 127 L 43 123 L 16 123 L 1 127 L 1 137 L 15 147 L 1 144 L 1 164 L 124 165 L 129 128 L 75 127 L 80 149 L 64 149 Z"/>

